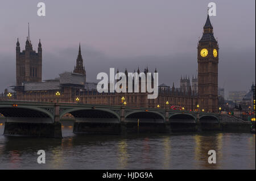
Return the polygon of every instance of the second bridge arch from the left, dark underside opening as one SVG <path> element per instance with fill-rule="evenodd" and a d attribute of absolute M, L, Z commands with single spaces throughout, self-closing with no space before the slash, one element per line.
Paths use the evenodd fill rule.
<path fill-rule="evenodd" d="M 72 108 L 65 110 L 60 113 L 60 118 L 63 117 L 66 113 L 71 113 L 75 118 L 77 117 L 91 117 L 91 118 L 115 118 L 120 121 L 120 116 L 117 112 L 114 112 L 105 108 Z"/>

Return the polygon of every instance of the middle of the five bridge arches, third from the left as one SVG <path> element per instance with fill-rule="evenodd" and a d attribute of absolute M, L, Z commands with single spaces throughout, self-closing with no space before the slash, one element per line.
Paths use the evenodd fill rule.
<path fill-rule="evenodd" d="M 156 112 L 156 111 L 131 111 L 125 115 L 125 120 L 136 119 L 137 121 L 140 118 L 147 119 L 147 120 L 151 119 L 151 121 L 154 120 L 154 121 L 157 121 L 158 123 L 159 122 L 164 123 L 166 120 L 165 117 L 160 112 Z"/>

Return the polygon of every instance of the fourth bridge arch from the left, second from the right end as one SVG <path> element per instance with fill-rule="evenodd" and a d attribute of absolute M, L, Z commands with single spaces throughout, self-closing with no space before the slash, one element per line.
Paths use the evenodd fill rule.
<path fill-rule="evenodd" d="M 170 123 L 196 123 L 196 117 L 189 113 L 175 113 L 169 116 Z"/>

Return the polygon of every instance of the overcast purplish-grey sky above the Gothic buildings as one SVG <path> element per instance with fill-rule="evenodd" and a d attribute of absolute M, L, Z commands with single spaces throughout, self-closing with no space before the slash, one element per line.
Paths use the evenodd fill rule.
<path fill-rule="evenodd" d="M 37 15 L 38 2 L 46 16 Z M 109 68 L 159 72 L 159 84 L 179 87 L 181 75 L 197 73 L 197 43 L 209 2 L 219 43 L 218 86 L 249 91 L 255 82 L 255 1 L 191 0 L 1 0 L 0 92 L 15 85 L 15 47 L 24 49 L 27 23 L 33 49 L 43 48 L 43 79 L 72 71 L 79 43 L 88 81 Z"/>

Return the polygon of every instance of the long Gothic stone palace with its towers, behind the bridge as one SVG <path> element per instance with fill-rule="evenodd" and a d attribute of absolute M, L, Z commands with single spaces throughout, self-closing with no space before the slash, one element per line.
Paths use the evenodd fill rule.
<path fill-rule="evenodd" d="M 20 53 L 19 41 L 16 44 L 16 86 L 14 99 L 39 102 L 69 102 L 83 104 L 124 105 L 131 107 L 170 108 L 184 107 L 185 110 L 218 111 L 218 43 L 213 36 L 209 16 L 204 33 L 197 47 L 198 76 L 181 77 L 180 87 L 159 86 L 158 98 L 147 99 L 146 92 L 99 93 L 96 83 L 86 82 L 86 71 L 79 53 L 73 72 L 60 74 L 59 78 L 42 82 L 42 45 L 39 40 L 38 53 L 32 50 L 29 38 L 26 49 Z M 119 72 L 119 71 L 118 71 Z M 135 70 L 134 70 L 135 72 Z M 149 70 L 144 69 L 144 73 Z M 155 70 L 156 72 L 156 70 Z M 138 68 L 137 73 L 140 73 Z M 125 74 L 127 70 L 125 69 Z M 60 95 L 56 96 L 59 91 Z M 77 99 L 78 98 L 78 99 Z"/>

